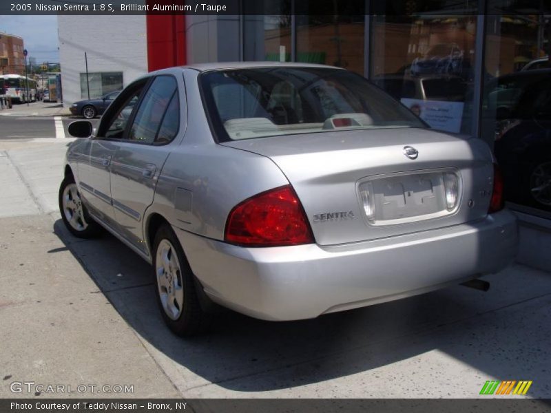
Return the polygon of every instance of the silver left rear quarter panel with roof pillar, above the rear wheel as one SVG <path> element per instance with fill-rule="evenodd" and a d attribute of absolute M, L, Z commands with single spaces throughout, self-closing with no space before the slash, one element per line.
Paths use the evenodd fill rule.
<path fill-rule="evenodd" d="M 144 220 L 146 237 L 148 218 L 158 213 L 180 229 L 223 240 L 227 215 L 236 204 L 289 184 L 269 158 L 215 142 L 197 78 L 197 71 L 184 70 L 187 127 L 158 178 Z"/>

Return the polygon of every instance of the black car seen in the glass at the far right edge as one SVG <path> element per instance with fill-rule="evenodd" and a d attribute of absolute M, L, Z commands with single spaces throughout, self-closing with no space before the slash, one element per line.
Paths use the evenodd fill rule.
<path fill-rule="evenodd" d="M 501 76 L 486 92 L 506 200 L 551 211 L 551 69 Z"/>

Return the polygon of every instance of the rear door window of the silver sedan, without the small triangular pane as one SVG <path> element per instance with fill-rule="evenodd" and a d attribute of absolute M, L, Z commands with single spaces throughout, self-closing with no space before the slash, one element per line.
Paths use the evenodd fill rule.
<path fill-rule="evenodd" d="M 163 118 L 178 85 L 172 76 L 158 76 L 147 89 L 134 123 L 129 130 L 128 140 L 153 143 L 163 123 Z"/>

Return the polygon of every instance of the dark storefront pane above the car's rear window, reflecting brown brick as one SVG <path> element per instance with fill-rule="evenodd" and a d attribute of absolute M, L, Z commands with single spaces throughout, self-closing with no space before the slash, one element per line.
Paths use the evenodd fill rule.
<path fill-rule="evenodd" d="M 344 67 L 363 76 L 365 1 L 306 0 L 296 7 L 296 60 Z"/>

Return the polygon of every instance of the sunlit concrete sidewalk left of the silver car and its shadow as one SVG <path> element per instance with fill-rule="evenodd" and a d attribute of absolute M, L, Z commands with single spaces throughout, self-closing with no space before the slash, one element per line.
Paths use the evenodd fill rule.
<path fill-rule="evenodd" d="M 0 151 L 0 397 L 178 397 L 134 329 L 54 232 L 64 149 L 27 143 Z M 72 390 L 129 385 L 133 392 L 10 390 L 14 382 L 31 381 Z"/>

